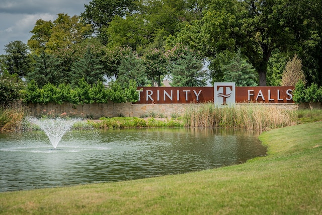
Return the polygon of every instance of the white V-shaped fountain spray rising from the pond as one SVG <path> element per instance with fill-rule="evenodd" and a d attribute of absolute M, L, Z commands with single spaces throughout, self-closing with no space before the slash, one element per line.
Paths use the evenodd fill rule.
<path fill-rule="evenodd" d="M 43 118 L 29 117 L 29 122 L 38 125 L 48 136 L 54 149 L 57 148 L 61 137 L 80 119 Z"/>

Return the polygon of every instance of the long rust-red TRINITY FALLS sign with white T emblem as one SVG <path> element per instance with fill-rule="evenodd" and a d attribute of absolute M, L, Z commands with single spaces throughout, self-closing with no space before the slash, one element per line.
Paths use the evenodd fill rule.
<path fill-rule="evenodd" d="M 293 90 L 293 86 L 235 87 L 235 83 L 214 83 L 214 87 L 138 87 L 137 104 L 293 103 Z"/>

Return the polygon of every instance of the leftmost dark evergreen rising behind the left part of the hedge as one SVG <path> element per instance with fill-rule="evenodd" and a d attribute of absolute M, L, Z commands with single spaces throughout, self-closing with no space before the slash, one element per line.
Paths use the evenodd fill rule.
<path fill-rule="evenodd" d="M 34 56 L 34 70 L 27 74 L 26 79 L 28 81 L 34 80 L 39 87 L 47 83 L 56 86 L 69 83 L 71 74 L 63 71 L 61 60 L 55 55 L 47 54 L 44 50 L 40 52 L 39 56 Z"/>

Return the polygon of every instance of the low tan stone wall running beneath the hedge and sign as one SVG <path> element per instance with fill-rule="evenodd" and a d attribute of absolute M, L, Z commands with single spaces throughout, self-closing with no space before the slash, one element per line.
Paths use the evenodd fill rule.
<path fill-rule="evenodd" d="M 173 115 L 183 115 L 187 108 L 200 108 L 205 104 L 130 104 L 130 103 L 113 103 L 107 104 L 85 104 L 73 106 L 72 104 L 29 104 L 27 109 L 29 115 L 40 117 L 43 115 L 49 116 L 76 116 L 98 119 L 100 117 L 115 117 L 115 116 L 147 116 L 147 115 L 162 115 L 171 117 Z M 265 105 L 276 106 L 277 108 L 296 110 L 297 104 L 236 104 L 240 105 Z"/>

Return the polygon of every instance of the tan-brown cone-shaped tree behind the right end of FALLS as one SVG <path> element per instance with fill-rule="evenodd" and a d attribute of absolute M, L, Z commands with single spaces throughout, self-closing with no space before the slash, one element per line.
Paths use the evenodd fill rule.
<path fill-rule="evenodd" d="M 295 54 L 285 66 L 281 86 L 295 86 L 298 81 L 306 84 L 305 75 L 302 70 L 302 60 Z"/>

